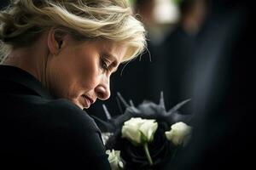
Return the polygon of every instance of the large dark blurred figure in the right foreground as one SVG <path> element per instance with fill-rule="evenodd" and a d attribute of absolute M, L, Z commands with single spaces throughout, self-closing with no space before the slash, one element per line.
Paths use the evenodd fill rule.
<path fill-rule="evenodd" d="M 191 143 L 167 169 L 251 169 L 255 153 L 253 98 L 255 10 L 252 2 L 214 0 L 197 38 L 191 72 Z M 173 164 L 173 162 L 176 162 Z"/>

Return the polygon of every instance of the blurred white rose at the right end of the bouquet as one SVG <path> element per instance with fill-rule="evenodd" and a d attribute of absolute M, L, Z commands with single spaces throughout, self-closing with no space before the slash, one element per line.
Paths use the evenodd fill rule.
<path fill-rule="evenodd" d="M 191 135 L 192 127 L 186 123 L 177 122 L 172 125 L 172 129 L 166 132 L 166 138 L 176 145 L 185 145 Z"/>

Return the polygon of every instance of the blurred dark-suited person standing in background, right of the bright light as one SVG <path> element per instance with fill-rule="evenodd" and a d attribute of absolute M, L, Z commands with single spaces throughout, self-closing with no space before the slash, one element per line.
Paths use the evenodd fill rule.
<path fill-rule="evenodd" d="M 162 44 L 158 72 L 155 77 L 159 82 L 156 87 L 165 93 L 167 108 L 176 105 L 184 99 L 190 99 L 186 88 L 190 86 L 188 80 L 189 67 L 196 56 L 195 37 L 207 16 L 207 0 L 183 0 L 178 4 L 180 20 L 177 26 L 166 37 Z M 188 111 L 188 107 L 184 109 Z"/>

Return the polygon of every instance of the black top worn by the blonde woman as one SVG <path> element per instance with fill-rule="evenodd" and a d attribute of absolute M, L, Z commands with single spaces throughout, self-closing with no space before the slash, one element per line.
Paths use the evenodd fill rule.
<path fill-rule="evenodd" d="M 0 155 L 0 169 L 110 169 L 93 119 L 7 65 L 0 65 Z"/>

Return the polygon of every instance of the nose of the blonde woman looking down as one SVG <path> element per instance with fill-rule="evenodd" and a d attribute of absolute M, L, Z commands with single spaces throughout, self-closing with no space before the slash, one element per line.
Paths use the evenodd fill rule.
<path fill-rule="evenodd" d="M 110 79 L 110 77 L 102 78 L 102 82 L 100 82 L 96 86 L 95 92 L 96 92 L 98 99 L 105 100 L 110 97 L 109 79 Z"/>

